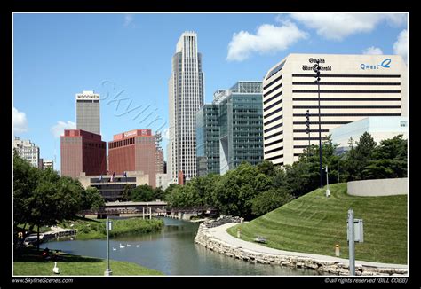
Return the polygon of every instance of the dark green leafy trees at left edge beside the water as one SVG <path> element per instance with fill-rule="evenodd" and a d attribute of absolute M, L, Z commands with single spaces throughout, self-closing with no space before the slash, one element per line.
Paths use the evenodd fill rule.
<path fill-rule="evenodd" d="M 32 167 L 17 152 L 13 152 L 13 226 L 32 231 L 36 226 L 52 226 L 72 220 L 80 210 L 97 209 L 105 205 L 96 188 L 83 189 L 79 181 L 47 168 Z M 39 238 L 39 237 L 38 237 Z M 23 242 L 23 239 L 16 239 Z M 15 242 L 15 245 L 16 243 Z M 39 242 L 38 242 L 39 243 Z"/>

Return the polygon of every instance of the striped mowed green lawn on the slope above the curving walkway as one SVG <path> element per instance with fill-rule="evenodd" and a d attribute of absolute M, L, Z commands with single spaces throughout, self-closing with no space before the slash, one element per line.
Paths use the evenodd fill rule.
<path fill-rule="evenodd" d="M 348 258 L 349 208 L 364 225 L 364 242 L 355 243 L 356 260 L 407 263 L 407 195 L 354 197 L 346 193 L 346 184 L 331 184 L 330 198 L 317 189 L 228 232 L 236 237 L 240 227 L 244 240 L 263 236 L 269 247 L 330 256 L 338 244 L 340 257 Z"/>

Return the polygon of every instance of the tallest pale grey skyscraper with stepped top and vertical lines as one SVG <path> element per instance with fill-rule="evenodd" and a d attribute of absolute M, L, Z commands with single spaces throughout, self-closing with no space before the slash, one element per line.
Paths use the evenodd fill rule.
<path fill-rule="evenodd" d="M 195 32 L 185 32 L 172 57 L 169 81 L 168 174 L 174 183 L 178 182 L 180 171 L 186 180 L 196 175 L 195 113 L 202 105 L 202 55 L 197 51 Z"/>

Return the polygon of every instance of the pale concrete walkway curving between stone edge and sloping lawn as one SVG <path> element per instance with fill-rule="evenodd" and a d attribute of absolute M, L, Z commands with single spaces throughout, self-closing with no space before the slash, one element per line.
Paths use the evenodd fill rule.
<path fill-rule="evenodd" d="M 342 259 L 338 257 L 331 257 L 331 256 L 326 256 L 326 255 L 320 255 L 320 254 L 308 254 L 308 253 L 298 253 L 298 252 L 277 250 L 277 249 L 259 245 L 258 243 L 252 243 L 248 241 L 243 241 L 242 239 L 239 239 L 239 238 L 234 238 L 233 236 L 228 234 L 226 229 L 233 227 L 234 225 L 237 225 L 237 224 L 238 223 L 226 223 L 215 228 L 210 228 L 208 232 L 213 236 L 213 238 L 218 238 L 219 240 L 226 242 L 227 244 L 230 244 L 232 246 L 239 246 L 239 247 L 242 247 L 242 249 L 250 250 L 256 253 L 299 256 L 299 257 L 313 258 L 316 260 L 322 260 L 322 261 L 327 261 L 327 262 L 341 262 L 346 265 L 349 264 L 348 259 Z M 377 267 L 377 268 L 393 268 L 393 269 L 407 269 L 408 270 L 408 265 L 355 260 L 355 266 L 359 266 L 359 265 Z"/>

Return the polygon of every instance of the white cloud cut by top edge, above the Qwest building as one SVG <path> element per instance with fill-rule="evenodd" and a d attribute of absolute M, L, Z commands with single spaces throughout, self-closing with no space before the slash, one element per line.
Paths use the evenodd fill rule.
<path fill-rule="evenodd" d="M 318 35 L 329 40 L 341 41 L 346 36 L 368 33 L 377 24 L 386 21 L 389 25 L 400 26 L 406 22 L 405 13 L 291 13 L 290 17 L 315 29 Z"/>

